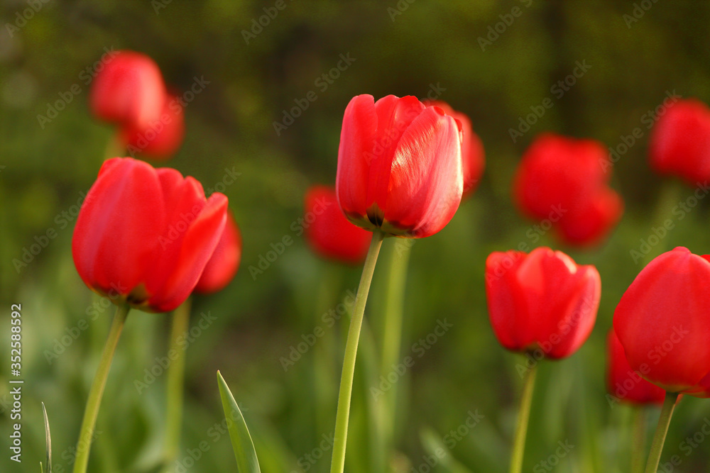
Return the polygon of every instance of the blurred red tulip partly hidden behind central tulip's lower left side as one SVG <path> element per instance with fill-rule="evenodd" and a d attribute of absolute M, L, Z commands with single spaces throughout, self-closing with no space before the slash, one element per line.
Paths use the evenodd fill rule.
<path fill-rule="evenodd" d="M 345 218 L 331 187 L 314 186 L 307 191 L 304 221 L 308 243 L 318 255 L 350 265 L 365 259 L 372 233 Z"/>

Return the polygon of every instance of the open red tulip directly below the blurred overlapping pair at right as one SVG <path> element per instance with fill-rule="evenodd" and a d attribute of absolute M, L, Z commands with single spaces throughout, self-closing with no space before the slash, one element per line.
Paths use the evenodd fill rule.
<path fill-rule="evenodd" d="M 508 350 L 572 355 L 596 320 L 601 281 L 594 266 L 579 266 L 547 247 L 493 252 L 486 260 L 488 315 Z"/>

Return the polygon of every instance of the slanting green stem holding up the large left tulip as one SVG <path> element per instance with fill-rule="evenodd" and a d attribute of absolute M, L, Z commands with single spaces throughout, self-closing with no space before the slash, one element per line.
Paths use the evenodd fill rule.
<path fill-rule="evenodd" d="M 89 399 L 84 410 L 84 420 L 79 433 L 79 441 L 77 442 L 77 457 L 74 462 L 74 473 L 86 473 L 87 465 L 89 464 L 89 450 L 91 450 L 92 440 L 94 438 L 94 427 L 96 427 L 96 419 L 99 416 L 99 406 L 101 406 L 101 398 L 104 395 L 104 387 L 106 380 L 109 377 L 109 369 L 111 369 L 111 360 L 114 359 L 116 345 L 121 337 L 121 330 L 126 323 L 126 316 L 129 314 L 130 307 L 128 304 L 116 306 L 116 315 L 114 321 L 111 322 L 111 330 L 109 330 L 109 338 L 104 345 L 104 351 L 99 360 L 99 367 L 94 374 L 94 381 L 89 389 Z"/>

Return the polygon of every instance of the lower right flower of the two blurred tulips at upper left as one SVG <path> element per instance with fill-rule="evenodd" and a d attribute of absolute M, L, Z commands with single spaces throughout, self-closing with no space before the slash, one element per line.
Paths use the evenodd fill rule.
<path fill-rule="evenodd" d="M 121 140 L 131 156 L 145 155 L 166 159 L 175 154 L 185 135 L 185 113 L 178 98 L 165 96 L 163 113 L 149 126 L 129 124 L 121 130 Z"/>

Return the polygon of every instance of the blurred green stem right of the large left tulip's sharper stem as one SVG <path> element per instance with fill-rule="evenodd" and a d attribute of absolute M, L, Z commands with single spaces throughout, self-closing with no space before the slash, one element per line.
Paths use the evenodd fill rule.
<path fill-rule="evenodd" d="M 190 325 L 192 301 L 187 298 L 173 312 L 173 328 L 170 330 L 168 358 L 172 360 L 168 367 L 168 398 L 165 401 L 165 467 L 178 456 L 180 432 L 182 430 L 182 398 L 185 392 L 185 347 L 178 340 L 185 335 Z M 174 353 L 173 353 L 174 352 Z M 173 355 L 171 355 L 173 354 Z M 173 359 L 174 358 L 174 359 Z"/>

